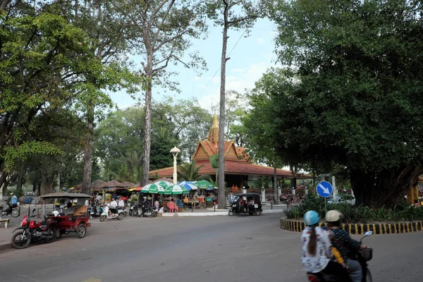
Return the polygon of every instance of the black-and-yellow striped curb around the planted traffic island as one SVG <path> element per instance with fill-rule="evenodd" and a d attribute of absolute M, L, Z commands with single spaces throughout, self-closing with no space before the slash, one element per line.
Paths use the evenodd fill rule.
<path fill-rule="evenodd" d="M 319 226 L 325 226 L 319 223 Z M 281 229 L 287 231 L 301 232 L 305 228 L 303 221 L 281 218 Z M 410 233 L 423 230 L 423 221 L 401 222 L 401 223 L 343 223 L 342 229 L 350 234 L 363 234 L 366 231 L 373 231 L 374 234 L 395 234 Z"/>

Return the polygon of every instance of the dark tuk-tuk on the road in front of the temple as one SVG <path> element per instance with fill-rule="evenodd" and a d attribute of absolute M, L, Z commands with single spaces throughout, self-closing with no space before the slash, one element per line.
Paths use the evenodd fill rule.
<path fill-rule="evenodd" d="M 262 202 L 260 202 L 259 194 L 245 193 L 237 194 L 233 197 L 229 215 L 233 216 L 234 214 L 250 214 L 250 216 L 259 216 L 262 214 L 262 212 Z"/>

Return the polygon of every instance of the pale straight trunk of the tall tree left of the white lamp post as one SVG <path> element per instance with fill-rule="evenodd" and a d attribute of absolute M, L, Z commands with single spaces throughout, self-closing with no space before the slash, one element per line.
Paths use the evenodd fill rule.
<path fill-rule="evenodd" d="M 147 55 L 147 90 L 145 90 L 145 128 L 144 128 L 144 148 L 142 152 L 142 178 L 141 186 L 148 183 L 149 179 L 149 160 L 151 147 L 151 129 L 152 129 L 152 69 L 153 54 L 152 51 Z M 170 151 L 171 148 L 169 148 Z M 171 154 L 169 153 L 169 156 Z"/>

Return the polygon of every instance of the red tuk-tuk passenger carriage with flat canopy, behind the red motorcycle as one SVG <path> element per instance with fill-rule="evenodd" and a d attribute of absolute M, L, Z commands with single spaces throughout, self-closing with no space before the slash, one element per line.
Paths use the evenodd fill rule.
<path fill-rule="evenodd" d="M 42 199 L 53 200 L 86 200 L 91 196 L 81 193 L 58 192 L 41 196 Z M 44 201 L 47 202 L 47 201 Z M 88 222 L 90 214 L 88 214 L 88 207 L 85 204 L 76 204 L 71 207 L 62 208 L 54 207 L 50 219 L 56 221 L 56 238 L 61 238 L 63 234 L 76 232 L 78 238 L 84 238 L 87 233 L 87 227 L 91 226 Z"/>

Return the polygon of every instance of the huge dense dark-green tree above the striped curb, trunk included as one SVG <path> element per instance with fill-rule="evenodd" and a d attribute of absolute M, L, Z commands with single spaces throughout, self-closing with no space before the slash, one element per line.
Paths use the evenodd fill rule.
<path fill-rule="evenodd" d="M 393 206 L 423 172 L 420 1 L 271 1 L 278 58 L 298 72 L 273 91 L 278 149 L 343 166 L 357 204 Z"/>

